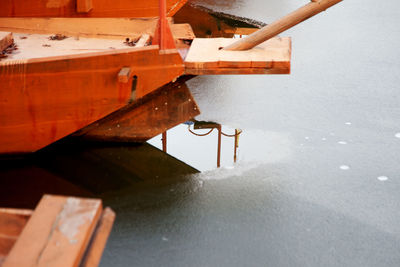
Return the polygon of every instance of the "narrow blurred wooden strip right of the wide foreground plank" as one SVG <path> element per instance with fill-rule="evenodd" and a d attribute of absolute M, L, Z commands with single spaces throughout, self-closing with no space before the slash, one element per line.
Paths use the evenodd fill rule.
<path fill-rule="evenodd" d="M 114 221 L 115 212 L 109 207 L 105 208 L 82 259 L 81 267 L 95 267 L 99 265 Z"/>

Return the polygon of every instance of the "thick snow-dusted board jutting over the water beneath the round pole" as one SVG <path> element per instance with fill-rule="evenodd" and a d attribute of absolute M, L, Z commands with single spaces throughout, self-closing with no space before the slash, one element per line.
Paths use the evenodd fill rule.
<path fill-rule="evenodd" d="M 289 74 L 291 39 L 273 38 L 248 51 L 225 51 L 235 42 L 227 38 L 196 38 L 185 58 L 185 73 Z"/>

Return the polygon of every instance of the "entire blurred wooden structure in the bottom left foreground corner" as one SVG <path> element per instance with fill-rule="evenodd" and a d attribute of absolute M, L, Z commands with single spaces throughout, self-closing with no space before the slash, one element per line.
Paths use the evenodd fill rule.
<path fill-rule="evenodd" d="M 0 209 L 0 266 L 98 266 L 114 219 L 99 199 L 45 195 L 34 211 Z"/>

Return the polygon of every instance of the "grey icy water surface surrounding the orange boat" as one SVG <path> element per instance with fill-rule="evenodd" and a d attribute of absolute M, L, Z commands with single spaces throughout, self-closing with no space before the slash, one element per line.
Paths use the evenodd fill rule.
<path fill-rule="evenodd" d="M 306 2 L 197 1 L 266 23 Z M 291 75 L 191 80 L 198 119 L 243 129 L 239 161 L 171 136 L 210 163 L 104 195 L 101 266 L 400 266 L 399 25 L 397 0 L 345 0 L 282 34 Z"/>

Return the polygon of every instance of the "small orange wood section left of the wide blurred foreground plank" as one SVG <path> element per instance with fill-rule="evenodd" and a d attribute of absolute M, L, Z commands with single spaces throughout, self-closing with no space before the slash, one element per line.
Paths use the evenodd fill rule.
<path fill-rule="evenodd" d="M 32 210 L 0 208 L 0 266 L 14 246 Z"/>

